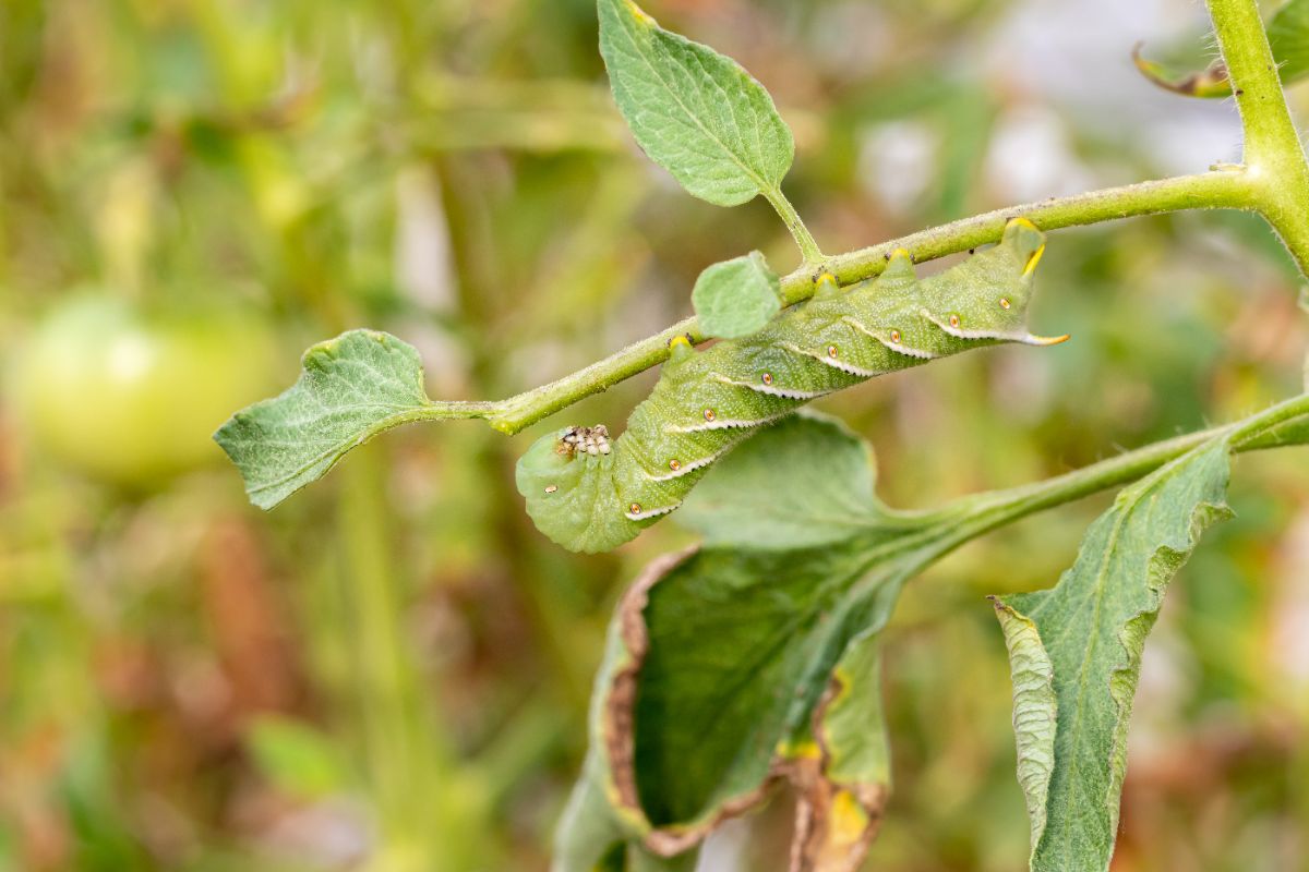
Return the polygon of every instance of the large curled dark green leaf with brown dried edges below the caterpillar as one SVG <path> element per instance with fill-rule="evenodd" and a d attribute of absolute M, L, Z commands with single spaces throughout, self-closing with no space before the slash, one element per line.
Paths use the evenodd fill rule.
<path fill-rule="evenodd" d="M 814 461 L 823 456 L 833 471 Z M 585 774 L 560 825 L 560 872 L 592 869 L 617 838 L 683 851 L 758 803 L 780 773 L 802 807 L 839 808 L 827 820 L 840 826 L 800 829 L 813 856 L 853 863 L 876 833 L 889 779 L 873 637 L 903 583 L 967 537 L 959 515 L 886 509 L 872 495 L 868 448 L 806 417 L 766 430 L 713 475 L 721 493 L 711 489 L 709 505 L 740 516 L 763 489 L 808 495 L 791 503 L 793 518 L 787 503 L 768 515 L 771 539 L 733 536 L 730 515 L 702 506 L 696 523 L 746 545 L 656 561 L 623 597 Z M 825 505 L 829 515 L 816 514 Z M 838 505 L 857 523 L 843 537 L 808 536 L 804 527 L 821 528 Z"/>

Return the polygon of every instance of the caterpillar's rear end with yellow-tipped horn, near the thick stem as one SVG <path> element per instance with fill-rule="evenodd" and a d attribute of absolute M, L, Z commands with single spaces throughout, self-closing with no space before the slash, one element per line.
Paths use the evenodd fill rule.
<path fill-rule="evenodd" d="M 925 315 L 950 336 L 965 340 L 1056 345 L 1068 336 L 1033 336 L 1028 307 L 1033 273 L 1046 237 L 1026 218 L 1013 218 L 1004 237 L 970 260 L 923 280 Z"/>

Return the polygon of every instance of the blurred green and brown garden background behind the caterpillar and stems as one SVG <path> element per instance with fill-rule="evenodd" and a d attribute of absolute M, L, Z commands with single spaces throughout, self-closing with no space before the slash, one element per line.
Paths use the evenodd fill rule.
<path fill-rule="evenodd" d="M 648 5 L 778 97 L 827 251 L 1237 149 L 1229 103 L 1132 68 L 1138 39 L 1207 61 L 1183 0 Z M 8 0 L 0 196 L 0 868 L 545 868 L 609 609 L 686 533 L 562 552 L 513 489 L 531 434 L 478 425 L 390 434 L 263 515 L 208 434 L 348 327 L 416 344 L 445 399 L 562 375 L 687 314 L 713 261 L 793 265 L 767 205 L 729 217 L 635 153 L 590 0 Z M 1296 273 L 1257 218 L 1063 231 L 1042 269 L 1037 319 L 1073 343 L 822 404 L 877 444 L 893 505 L 1062 472 L 1302 378 Z M 622 421 L 652 378 L 579 420 Z M 1115 869 L 1309 863 L 1302 458 L 1241 459 L 1233 506 L 1145 659 Z M 1021 865 L 982 597 L 1049 586 L 1102 507 L 910 587 L 869 868 Z M 776 868 L 784 805 L 703 867 Z"/>

